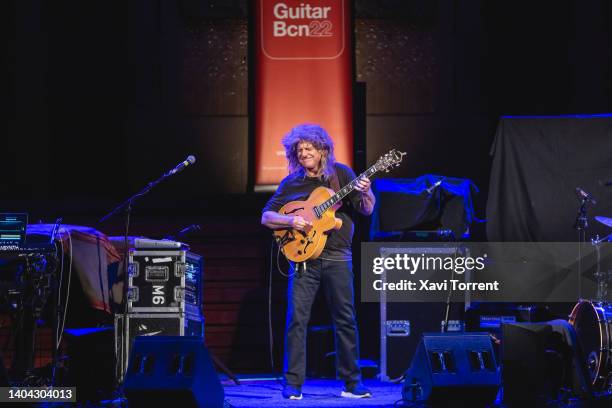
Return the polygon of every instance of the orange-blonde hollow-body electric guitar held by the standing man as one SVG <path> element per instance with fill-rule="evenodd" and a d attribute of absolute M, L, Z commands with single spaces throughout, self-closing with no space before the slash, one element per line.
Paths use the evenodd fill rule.
<path fill-rule="evenodd" d="M 342 227 L 342 220 L 336 218 L 336 210 L 342 205 L 342 199 L 350 194 L 357 181 L 366 176 L 370 178 L 380 171 L 389 171 L 392 166 L 399 166 L 406 153 L 395 149 L 382 155 L 376 163 L 355 177 L 350 183 L 334 192 L 327 187 L 315 188 L 306 201 L 291 201 L 278 212 L 283 215 L 301 216 L 312 226 L 305 231 L 296 229 L 279 229 L 274 231 L 276 241 L 285 257 L 293 262 L 305 262 L 316 259 L 327 242 L 327 235 L 332 230 Z"/>

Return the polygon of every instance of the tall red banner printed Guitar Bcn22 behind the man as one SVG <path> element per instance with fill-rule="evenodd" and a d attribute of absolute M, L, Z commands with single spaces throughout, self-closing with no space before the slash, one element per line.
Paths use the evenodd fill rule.
<path fill-rule="evenodd" d="M 351 2 L 256 0 L 255 184 L 287 174 L 283 136 L 317 123 L 334 140 L 336 159 L 352 165 Z"/>

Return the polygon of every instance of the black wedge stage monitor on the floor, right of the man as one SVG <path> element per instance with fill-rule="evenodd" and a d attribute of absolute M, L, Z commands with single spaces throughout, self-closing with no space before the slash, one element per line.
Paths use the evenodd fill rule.
<path fill-rule="evenodd" d="M 425 333 L 406 372 L 402 397 L 428 406 L 492 404 L 499 369 L 487 333 Z"/>

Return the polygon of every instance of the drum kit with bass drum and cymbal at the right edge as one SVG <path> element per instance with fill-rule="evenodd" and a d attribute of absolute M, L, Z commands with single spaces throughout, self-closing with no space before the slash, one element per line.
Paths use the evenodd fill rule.
<path fill-rule="evenodd" d="M 612 218 L 596 216 L 595 220 L 612 228 Z M 581 345 L 586 368 L 594 391 L 612 391 L 612 303 L 608 301 L 608 281 L 612 270 L 601 271 L 600 250 L 604 242 L 612 242 L 612 234 L 591 240 L 597 255 L 597 296 L 580 300 L 573 308 L 569 323 Z"/>

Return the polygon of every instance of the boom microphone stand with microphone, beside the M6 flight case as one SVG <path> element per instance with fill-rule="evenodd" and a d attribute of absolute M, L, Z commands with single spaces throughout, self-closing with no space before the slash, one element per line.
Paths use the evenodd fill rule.
<path fill-rule="evenodd" d="M 141 197 L 143 197 L 144 195 L 146 195 L 149 191 L 151 191 L 153 189 L 153 187 L 155 187 L 157 184 L 161 183 L 162 181 L 164 181 L 165 179 L 167 179 L 168 177 L 170 177 L 172 174 L 172 172 L 168 172 L 166 174 L 164 174 L 163 176 L 161 176 L 160 178 L 158 178 L 157 180 L 151 181 L 150 183 L 148 183 L 142 190 L 140 190 L 139 192 L 137 192 L 136 194 L 134 194 L 133 196 L 131 196 L 130 198 L 128 198 L 127 200 L 125 200 L 123 203 L 119 204 L 117 207 L 115 207 L 114 210 L 112 210 L 110 213 L 106 214 L 104 217 L 102 217 L 100 219 L 100 221 L 98 221 L 99 224 L 103 223 L 104 221 L 108 220 L 109 218 L 113 217 L 116 214 L 119 214 L 121 211 L 125 212 L 125 235 L 124 235 L 124 255 L 123 255 L 123 326 L 122 326 L 122 333 L 121 333 L 121 355 L 120 357 L 117 356 L 117 350 L 115 350 L 115 358 L 118 359 L 118 361 L 120 361 L 121 363 L 125 363 L 125 367 L 123 367 L 123 364 L 119 364 L 119 370 L 115 370 L 115 383 L 117 386 L 120 386 L 123 381 L 125 380 L 125 370 L 127 369 L 127 360 L 128 360 L 128 353 L 127 353 L 127 343 L 129 342 L 129 332 L 128 332 L 128 324 L 127 324 L 127 319 L 128 319 L 128 296 L 129 296 L 129 268 L 128 268 L 128 263 L 129 263 L 129 230 L 130 230 L 130 215 L 132 213 L 132 208 L 134 203 L 140 199 Z"/>

